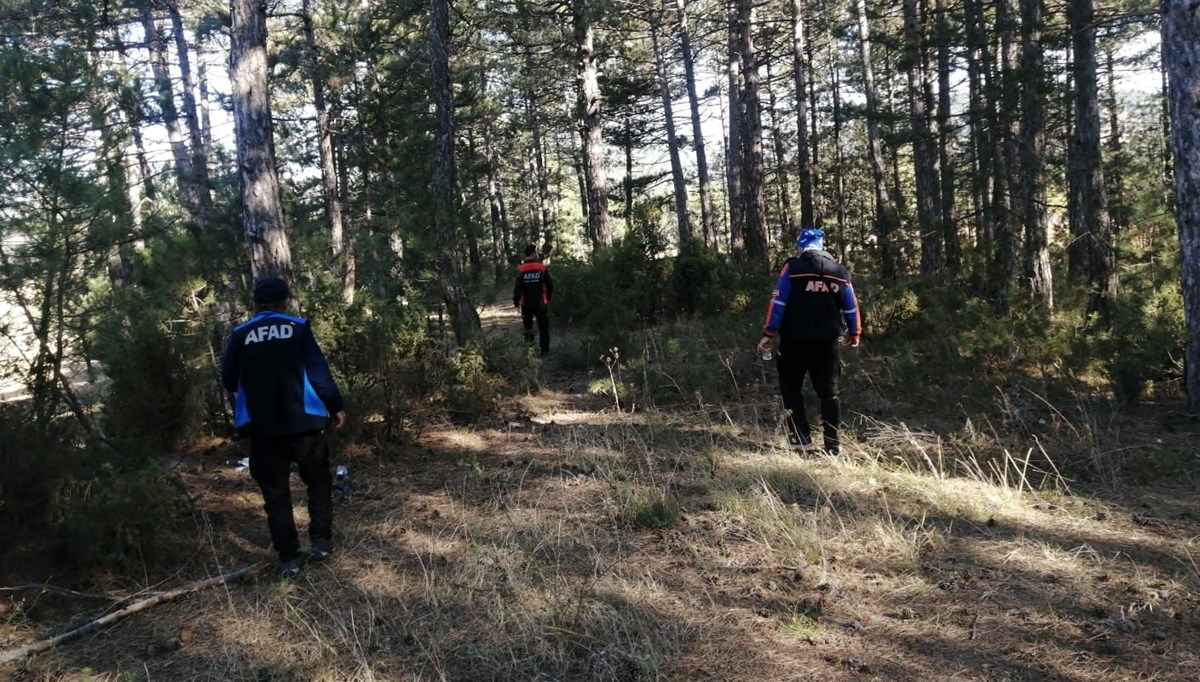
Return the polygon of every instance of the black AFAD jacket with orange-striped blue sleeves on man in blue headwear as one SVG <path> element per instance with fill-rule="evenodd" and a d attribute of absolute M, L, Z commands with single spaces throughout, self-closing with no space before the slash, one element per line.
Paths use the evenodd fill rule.
<path fill-rule="evenodd" d="M 784 340 L 836 339 L 863 333 L 850 271 L 826 251 L 788 258 L 767 307 L 763 334 Z"/>

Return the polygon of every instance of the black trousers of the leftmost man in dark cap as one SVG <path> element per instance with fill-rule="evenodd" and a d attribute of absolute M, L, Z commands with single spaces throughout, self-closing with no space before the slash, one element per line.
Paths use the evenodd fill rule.
<path fill-rule="evenodd" d="M 292 515 L 292 462 L 308 487 L 308 537 L 330 540 L 334 536 L 334 475 L 329 471 L 325 435 L 310 431 L 278 438 L 250 439 L 250 475 L 263 490 L 263 509 L 271 545 L 280 561 L 300 555 L 300 538 Z"/>

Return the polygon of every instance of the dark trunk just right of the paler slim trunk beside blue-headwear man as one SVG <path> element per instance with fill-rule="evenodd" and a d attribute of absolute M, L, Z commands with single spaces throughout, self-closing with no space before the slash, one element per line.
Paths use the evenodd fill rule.
<path fill-rule="evenodd" d="M 908 116 L 912 122 L 912 157 L 917 178 L 917 221 L 920 225 L 920 273 L 942 269 L 942 229 L 938 210 L 937 166 L 925 108 L 926 72 L 917 0 L 904 0 L 905 52 L 908 67 Z"/>

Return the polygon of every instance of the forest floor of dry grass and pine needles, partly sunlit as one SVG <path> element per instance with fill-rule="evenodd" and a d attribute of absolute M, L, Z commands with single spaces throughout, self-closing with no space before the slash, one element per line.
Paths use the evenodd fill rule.
<path fill-rule="evenodd" d="M 510 309 L 484 318 L 518 334 Z M 479 421 L 341 443 L 354 487 L 336 501 L 331 561 L 156 606 L 0 676 L 1200 680 L 1194 486 L 1082 492 L 1043 466 L 1051 484 L 1033 491 L 1030 455 L 972 469 L 968 449 L 858 412 L 886 412 L 869 395 L 846 396 L 842 455 L 797 454 L 760 417 L 778 409 L 767 372 L 736 406 L 630 413 L 553 357 L 540 371 L 542 390 Z M 1122 448 L 1200 442 L 1200 426 L 1166 432 L 1164 418 L 1130 418 L 1150 427 L 1127 429 Z M 901 449 L 928 466 L 896 466 Z M 191 550 L 90 591 L 270 561 L 258 490 L 228 463 L 239 445 L 197 453 L 180 474 Z M 952 455 L 954 475 L 940 461 Z M 0 594 L 0 650 L 94 606 Z"/>

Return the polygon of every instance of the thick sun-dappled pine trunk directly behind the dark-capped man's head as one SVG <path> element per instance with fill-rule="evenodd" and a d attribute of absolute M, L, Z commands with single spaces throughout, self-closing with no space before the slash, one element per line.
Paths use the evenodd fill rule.
<path fill-rule="evenodd" d="M 271 103 L 266 79 L 266 2 L 230 2 L 229 80 L 233 86 L 238 175 L 242 226 L 254 277 L 290 279 L 292 245 L 283 225 L 280 179 L 275 172 Z"/>

